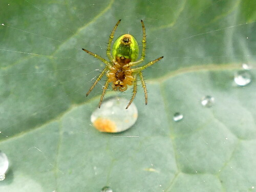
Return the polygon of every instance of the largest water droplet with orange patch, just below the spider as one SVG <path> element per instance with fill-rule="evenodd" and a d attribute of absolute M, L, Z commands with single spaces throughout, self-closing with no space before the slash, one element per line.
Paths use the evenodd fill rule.
<path fill-rule="evenodd" d="M 100 132 L 118 133 L 129 129 L 138 118 L 138 110 L 134 103 L 125 109 L 128 100 L 112 97 L 102 102 L 100 109 L 91 115 L 91 122 Z"/>

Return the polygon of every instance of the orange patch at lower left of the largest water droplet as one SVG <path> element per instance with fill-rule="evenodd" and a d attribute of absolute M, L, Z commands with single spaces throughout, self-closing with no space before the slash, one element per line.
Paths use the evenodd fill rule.
<path fill-rule="evenodd" d="M 93 122 L 93 125 L 100 132 L 116 133 L 116 124 L 109 119 L 98 118 Z"/>

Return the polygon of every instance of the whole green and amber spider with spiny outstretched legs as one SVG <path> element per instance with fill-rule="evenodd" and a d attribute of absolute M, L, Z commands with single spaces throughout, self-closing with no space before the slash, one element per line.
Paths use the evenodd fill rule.
<path fill-rule="evenodd" d="M 89 95 L 89 93 L 93 90 L 93 88 L 96 86 L 96 84 L 99 82 L 99 80 L 102 78 L 102 76 L 105 74 L 107 77 L 107 80 L 105 82 L 105 85 L 103 87 L 103 92 L 100 97 L 99 101 L 99 108 L 101 105 L 101 102 L 103 100 L 104 94 L 106 92 L 106 89 L 108 89 L 109 83 L 112 83 L 112 88 L 114 91 L 125 91 L 127 89 L 127 86 L 133 85 L 133 96 L 126 106 L 125 109 L 128 109 L 131 103 L 133 102 L 135 95 L 137 93 L 137 76 L 140 77 L 142 88 L 145 93 L 145 104 L 147 104 L 147 91 L 146 91 L 146 84 L 143 79 L 142 70 L 154 65 L 155 62 L 161 60 L 163 58 L 159 57 L 153 61 L 150 61 L 146 63 L 146 65 L 142 67 L 132 68 L 134 66 L 138 66 L 141 62 L 144 61 L 145 58 L 145 49 L 146 49 L 146 30 L 143 23 L 143 20 L 141 21 L 142 25 L 142 31 L 143 31 L 143 38 L 142 38 L 142 53 L 139 60 L 136 61 L 139 54 L 139 46 L 134 38 L 134 36 L 130 34 L 124 34 L 117 38 L 117 40 L 114 42 L 112 47 L 112 54 L 111 54 L 111 45 L 114 38 L 115 31 L 120 23 L 121 19 L 118 20 L 115 27 L 113 28 L 109 42 L 108 47 L 106 49 L 106 56 L 108 56 L 109 61 L 104 59 L 103 57 L 92 53 L 86 49 L 82 49 L 83 51 L 87 52 L 88 54 L 96 57 L 97 59 L 101 60 L 103 63 L 105 63 L 105 68 L 100 73 L 96 81 L 93 83 L 93 86 L 90 88 L 90 90 L 87 92 L 86 96 Z"/>

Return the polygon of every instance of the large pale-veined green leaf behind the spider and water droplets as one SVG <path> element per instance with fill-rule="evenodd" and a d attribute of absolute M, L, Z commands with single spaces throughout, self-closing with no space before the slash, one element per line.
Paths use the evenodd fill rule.
<path fill-rule="evenodd" d="M 1 1 L 0 150 L 10 162 L 0 191 L 254 191 L 255 1 Z M 85 96 L 115 37 L 142 39 L 145 106 L 116 136 L 90 122 L 102 79 Z M 233 81 L 242 63 L 251 82 Z M 105 78 L 105 77 L 104 77 Z M 106 97 L 125 94 L 109 90 Z M 211 108 L 200 99 L 215 98 Z M 184 118 L 173 121 L 179 112 Z"/>

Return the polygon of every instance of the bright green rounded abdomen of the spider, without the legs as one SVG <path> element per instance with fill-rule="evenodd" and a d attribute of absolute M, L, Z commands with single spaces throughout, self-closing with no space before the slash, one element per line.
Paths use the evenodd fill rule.
<path fill-rule="evenodd" d="M 139 46 L 134 36 L 124 34 L 117 38 L 112 48 L 114 58 L 125 58 L 135 61 L 138 58 Z"/>

